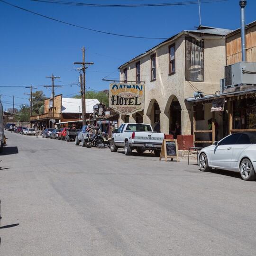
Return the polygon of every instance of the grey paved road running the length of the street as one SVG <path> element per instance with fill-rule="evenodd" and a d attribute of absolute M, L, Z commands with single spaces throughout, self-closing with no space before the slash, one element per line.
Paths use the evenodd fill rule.
<path fill-rule="evenodd" d="M 6 134 L 2 256 L 256 255 L 256 183 L 239 174 Z"/>

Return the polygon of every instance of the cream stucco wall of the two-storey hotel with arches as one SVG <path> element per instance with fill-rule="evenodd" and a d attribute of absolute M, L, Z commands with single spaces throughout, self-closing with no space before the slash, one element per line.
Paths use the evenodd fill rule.
<path fill-rule="evenodd" d="M 141 81 L 145 81 L 145 108 L 143 121 L 153 124 L 154 102 L 159 104 L 161 114 L 161 132 L 169 133 L 170 106 L 176 97 L 181 106 L 182 134 L 191 134 L 191 106 L 185 98 L 193 97 L 194 88 L 185 81 L 185 36 L 177 38 L 168 44 L 160 46 L 154 52 L 142 56 L 140 61 Z M 175 73 L 169 75 L 168 46 L 175 43 Z M 151 59 L 156 53 L 156 80 L 150 81 Z M 137 60 L 138 61 L 138 60 Z M 134 61 L 128 68 L 128 81 L 136 80 Z M 225 65 L 225 38 L 205 39 L 204 49 L 204 82 L 191 82 L 199 91 L 214 94 L 219 90 L 219 79 L 223 78 Z M 120 80 L 123 80 L 123 69 L 120 70 Z M 207 120 L 206 120 L 207 122 Z M 153 124 L 154 125 L 154 124 Z"/>

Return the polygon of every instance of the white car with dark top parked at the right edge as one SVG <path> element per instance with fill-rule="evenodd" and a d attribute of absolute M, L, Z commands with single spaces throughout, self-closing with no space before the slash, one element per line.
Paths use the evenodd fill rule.
<path fill-rule="evenodd" d="M 240 172 L 245 181 L 255 180 L 256 132 L 234 133 L 204 147 L 198 156 L 203 172 L 210 168 Z"/>

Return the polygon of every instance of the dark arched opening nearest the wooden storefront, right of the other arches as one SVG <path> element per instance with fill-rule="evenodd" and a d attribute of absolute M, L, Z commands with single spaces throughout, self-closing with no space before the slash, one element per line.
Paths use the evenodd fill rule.
<path fill-rule="evenodd" d="M 173 97 L 169 107 L 169 134 L 173 134 L 174 138 L 182 134 L 181 122 L 181 105 L 176 96 Z"/>

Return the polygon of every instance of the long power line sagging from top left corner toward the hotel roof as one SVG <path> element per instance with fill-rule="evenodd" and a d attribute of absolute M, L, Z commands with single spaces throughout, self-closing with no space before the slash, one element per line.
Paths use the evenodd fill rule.
<path fill-rule="evenodd" d="M 29 9 L 25 9 L 25 8 L 19 7 L 18 5 L 11 4 L 11 3 L 6 2 L 4 0 L 0 0 L 0 2 L 8 4 L 8 5 L 12 6 L 12 7 L 15 7 L 15 8 L 18 8 L 18 9 L 21 9 L 21 10 L 27 11 L 29 13 L 33 13 L 33 14 L 38 15 L 38 16 L 43 17 L 43 18 L 51 19 L 51 20 L 54 20 L 54 21 L 57 21 L 57 22 L 60 22 L 60 23 L 66 24 L 66 25 L 73 26 L 73 27 L 79 27 L 79 28 L 82 28 L 82 29 L 85 29 L 85 30 L 90 30 L 90 31 L 93 31 L 93 32 L 98 32 L 98 33 L 107 34 L 107 35 L 111 35 L 111 36 L 131 37 L 131 38 L 141 38 L 141 39 L 168 39 L 168 37 L 137 37 L 137 36 L 128 36 L 128 35 L 122 35 L 122 34 L 116 34 L 116 33 L 110 33 L 110 32 L 106 32 L 106 31 L 96 30 L 96 29 L 92 29 L 92 28 L 88 28 L 88 27 L 82 27 L 82 26 L 75 25 L 75 24 L 72 24 L 72 23 L 69 23 L 69 22 L 65 22 L 65 21 L 62 21 L 62 20 L 59 20 L 59 19 L 56 19 L 56 18 L 51 18 L 49 16 L 46 16 L 46 15 L 43 15 L 43 14 L 31 11 Z"/>

